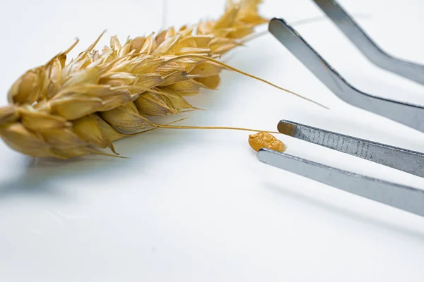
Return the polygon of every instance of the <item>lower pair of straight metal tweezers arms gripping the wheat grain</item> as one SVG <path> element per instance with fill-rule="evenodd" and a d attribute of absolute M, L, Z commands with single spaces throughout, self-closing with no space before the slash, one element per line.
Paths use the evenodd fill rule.
<path fill-rule="evenodd" d="M 424 176 L 424 154 L 419 152 L 341 135 L 293 121 L 280 121 L 278 131 L 314 145 L 367 159 L 367 161 L 406 171 L 416 176 Z M 305 176 L 369 200 L 424 216 L 424 190 L 422 189 L 344 171 L 268 148 L 260 149 L 257 158 L 264 164 Z"/>

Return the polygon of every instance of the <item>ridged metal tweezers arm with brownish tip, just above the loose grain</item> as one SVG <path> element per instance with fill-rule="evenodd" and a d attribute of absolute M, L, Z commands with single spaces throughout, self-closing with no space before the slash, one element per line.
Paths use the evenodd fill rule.
<path fill-rule="evenodd" d="M 420 152 L 334 133 L 293 121 L 280 121 L 278 131 L 299 140 L 424 177 L 424 154 Z"/>

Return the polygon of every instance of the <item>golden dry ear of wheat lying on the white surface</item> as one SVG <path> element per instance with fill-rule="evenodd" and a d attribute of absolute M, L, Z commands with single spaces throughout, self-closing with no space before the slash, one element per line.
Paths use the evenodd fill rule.
<path fill-rule="evenodd" d="M 0 108 L 1 138 L 23 154 L 67 159 L 110 155 L 100 150 L 107 147 L 117 154 L 112 142 L 143 130 L 182 128 L 149 117 L 196 109 L 184 96 L 218 87 L 228 66 L 216 59 L 267 22 L 258 14 L 260 2 L 228 1 L 218 20 L 123 45 L 114 36 L 102 51 L 94 49 L 99 37 L 66 63 L 75 42 L 12 85 L 9 105 Z"/>

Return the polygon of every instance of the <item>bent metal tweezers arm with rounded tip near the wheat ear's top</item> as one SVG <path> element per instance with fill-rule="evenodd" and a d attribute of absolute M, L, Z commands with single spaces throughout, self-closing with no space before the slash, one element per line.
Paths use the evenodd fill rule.
<path fill-rule="evenodd" d="M 281 18 L 271 20 L 269 31 L 343 101 L 424 132 L 423 107 L 374 97 L 357 90 Z"/>

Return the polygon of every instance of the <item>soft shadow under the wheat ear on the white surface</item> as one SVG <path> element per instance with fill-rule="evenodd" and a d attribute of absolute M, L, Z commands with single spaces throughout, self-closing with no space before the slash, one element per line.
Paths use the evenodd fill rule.
<path fill-rule="evenodd" d="M 72 180 L 90 175 L 93 180 L 101 183 L 102 176 L 105 176 L 108 171 L 117 174 L 134 165 L 138 167 L 137 173 L 142 174 L 143 167 L 148 166 L 149 159 L 155 158 L 155 154 L 158 154 L 161 148 L 180 149 L 179 147 L 184 145 L 184 140 L 190 137 L 190 133 L 189 130 L 182 131 L 185 132 L 155 130 L 115 142 L 115 149 L 119 154 L 129 157 L 129 159 L 95 155 L 67 160 L 23 156 L 24 161 L 22 161 L 23 167 L 20 169 L 20 175 L 4 180 L 4 182 L 0 181 L 0 201 L 6 197 L 25 195 L 66 197 L 66 193 L 62 191 L 64 188 L 61 187 L 60 180 Z"/>

